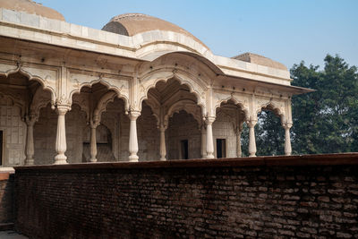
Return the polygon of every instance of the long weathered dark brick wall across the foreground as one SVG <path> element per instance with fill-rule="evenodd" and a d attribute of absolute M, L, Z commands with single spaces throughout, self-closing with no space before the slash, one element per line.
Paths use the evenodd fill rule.
<path fill-rule="evenodd" d="M 17 167 L 34 238 L 358 237 L 358 154 Z"/>

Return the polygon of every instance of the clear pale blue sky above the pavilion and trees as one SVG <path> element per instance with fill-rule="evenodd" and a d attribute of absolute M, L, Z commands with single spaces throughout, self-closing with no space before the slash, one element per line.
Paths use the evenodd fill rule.
<path fill-rule="evenodd" d="M 358 65 L 358 0 L 35 0 L 66 21 L 101 29 L 113 16 L 146 13 L 200 38 L 216 55 L 265 55 L 291 68 L 338 54 Z"/>

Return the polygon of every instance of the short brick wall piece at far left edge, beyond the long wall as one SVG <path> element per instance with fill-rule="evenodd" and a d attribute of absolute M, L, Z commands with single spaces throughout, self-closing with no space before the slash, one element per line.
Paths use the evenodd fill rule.
<path fill-rule="evenodd" d="M 13 175 L 0 173 L 0 226 L 13 222 Z"/>

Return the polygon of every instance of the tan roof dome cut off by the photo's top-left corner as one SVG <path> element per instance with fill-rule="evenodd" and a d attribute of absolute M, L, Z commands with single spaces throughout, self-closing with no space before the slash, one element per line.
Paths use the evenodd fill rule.
<path fill-rule="evenodd" d="M 32 0 L 0 0 L 0 8 L 36 14 L 42 17 L 64 21 L 64 16 L 52 8 L 35 3 Z"/>

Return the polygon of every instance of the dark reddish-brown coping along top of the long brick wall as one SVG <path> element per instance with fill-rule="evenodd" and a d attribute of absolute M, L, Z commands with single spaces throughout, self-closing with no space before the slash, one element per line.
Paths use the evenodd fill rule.
<path fill-rule="evenodd" d="M 358 152 L 267 156 L 256 158 L 187 159 L 149 162 L 100 162 L 68 165 L 15 166 L 15 172 L 27 170 L 86 170 L 86 169 L 135 169 L 175 167 L 230 167 L 230 166 L 340 166 L 358 165 Z"/>

